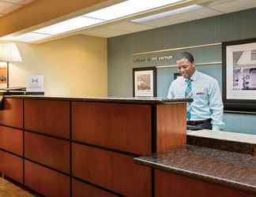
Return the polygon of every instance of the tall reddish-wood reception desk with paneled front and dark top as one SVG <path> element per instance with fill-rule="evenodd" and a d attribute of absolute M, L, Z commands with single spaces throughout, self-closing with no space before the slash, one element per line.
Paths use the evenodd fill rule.
<path fill-rule="evenodd" d="M 187 101 L 6 96 L 0 172 L 45 196 L 153 196 L 133 159 L 185 147 Z"/>

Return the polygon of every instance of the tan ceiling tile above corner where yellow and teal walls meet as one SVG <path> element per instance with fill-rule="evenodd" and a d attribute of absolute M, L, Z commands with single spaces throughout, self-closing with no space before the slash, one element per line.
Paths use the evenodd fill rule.
<path fill-rule="evenodd" d="M 81 32 L 84 35 L 92 35 L 96 37 L 111 38 L 118 35 L 125 35 L 129 32 L 120 31 L 112 28 L 95 28 L 93 30 L 85 30 Z"/>

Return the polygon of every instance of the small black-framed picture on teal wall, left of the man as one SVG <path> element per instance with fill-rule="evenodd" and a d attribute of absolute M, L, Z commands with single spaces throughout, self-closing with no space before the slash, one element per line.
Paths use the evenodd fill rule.
<path fill-rule="evenodd" d="M 135 97 L 156 96 L 156 67 L 134 68 L 133 87 Z"/>

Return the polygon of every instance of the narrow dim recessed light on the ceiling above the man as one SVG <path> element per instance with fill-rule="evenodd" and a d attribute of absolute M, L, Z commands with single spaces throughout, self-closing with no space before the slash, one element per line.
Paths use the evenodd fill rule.
<path fill-rule="evenodd" d="M 191 5 L 191 6 L 186 6 L 186 7 L 179 8 L 179 9 L 172 9 L 172 10 L 170 10 L 168 12 L 164 12 L 164 13 L 156 13 L 156 14 L 148 16 L 148 17 L 141 17 L 141 18 L 138 18 L 135 20 L 130 20 L 130 21 L 132 21 L 134 23 L 145 23 L 145 22 L 148 22 L 151 20 L 157 20 L 157 19 L 164 18 L 164 17 L 170 17 L 170 16 L 176 15 L 178 13 L 186 13 L 186 12 L 189 12 L 189 11 L 192 11 L 195 9 L 201 9 L 201 8 L 202 8 L 202 6 L 199 6 L 199 5 Z"/>

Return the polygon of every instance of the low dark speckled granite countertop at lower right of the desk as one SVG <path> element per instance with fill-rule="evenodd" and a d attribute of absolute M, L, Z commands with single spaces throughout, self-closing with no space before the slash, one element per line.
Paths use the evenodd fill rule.
<path fill-rule="evenodd" d="M 256 157 L 186 145 L 134 162 L 256 194 Z"/>

